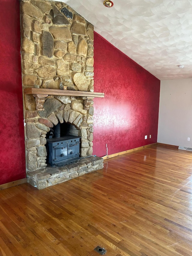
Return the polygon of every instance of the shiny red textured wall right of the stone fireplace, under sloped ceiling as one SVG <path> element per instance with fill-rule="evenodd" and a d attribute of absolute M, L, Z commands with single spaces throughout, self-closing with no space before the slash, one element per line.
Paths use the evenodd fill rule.
<path fill-rule="evenodd" d="M 93 154 L 157 142 L 160 80 L 95 33 Z M 149 138 L 149 135 L 152 138 Z M 145 135 L 148 135 L 145 140 Z"/>

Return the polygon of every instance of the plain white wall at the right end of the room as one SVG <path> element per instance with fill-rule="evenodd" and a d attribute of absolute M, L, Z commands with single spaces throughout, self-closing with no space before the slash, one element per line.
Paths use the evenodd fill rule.
<path fill-rule="evenodd" d="M 161 81 L 158 142 L 192 147 L 192 78 Z"/>

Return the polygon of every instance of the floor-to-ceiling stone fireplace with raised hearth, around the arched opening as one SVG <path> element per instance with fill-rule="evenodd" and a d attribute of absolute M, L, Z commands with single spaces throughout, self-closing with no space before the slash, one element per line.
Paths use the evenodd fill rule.
<path fill-rule="evenodd" d="M 103 158 L 91 156 L 94 108 L 86 97 L 94 94 L 93 26 L 65 3 L 21 1 L 21 37 L 28 182 L 42 189 L 102 169 Z M 37 94 L 26 93 L 34 87 Z M 58 122 L 76 127 L 81 159 L 47 167 L 46 133 Z"/>

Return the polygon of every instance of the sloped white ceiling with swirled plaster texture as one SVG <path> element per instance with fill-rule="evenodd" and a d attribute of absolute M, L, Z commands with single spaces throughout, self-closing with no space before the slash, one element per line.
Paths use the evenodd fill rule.
<path fill-rule="evenodd" d="M 112 8 L 103 0 L 64 2 L 160 80 L 192 77 L 192 0 L 113 0 Z"/>

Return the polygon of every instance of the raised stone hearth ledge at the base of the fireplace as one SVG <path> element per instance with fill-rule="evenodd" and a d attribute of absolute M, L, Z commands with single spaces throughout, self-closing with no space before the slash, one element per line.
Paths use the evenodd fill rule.
<path fill-rule="evenodd" d="M 104 159 L 98 156 L 80 158 L 58 167 L 47 166 L 36 171 L 27 171 L 27 181 L 38 189 L 47 188 L 103 168 Z"/>

